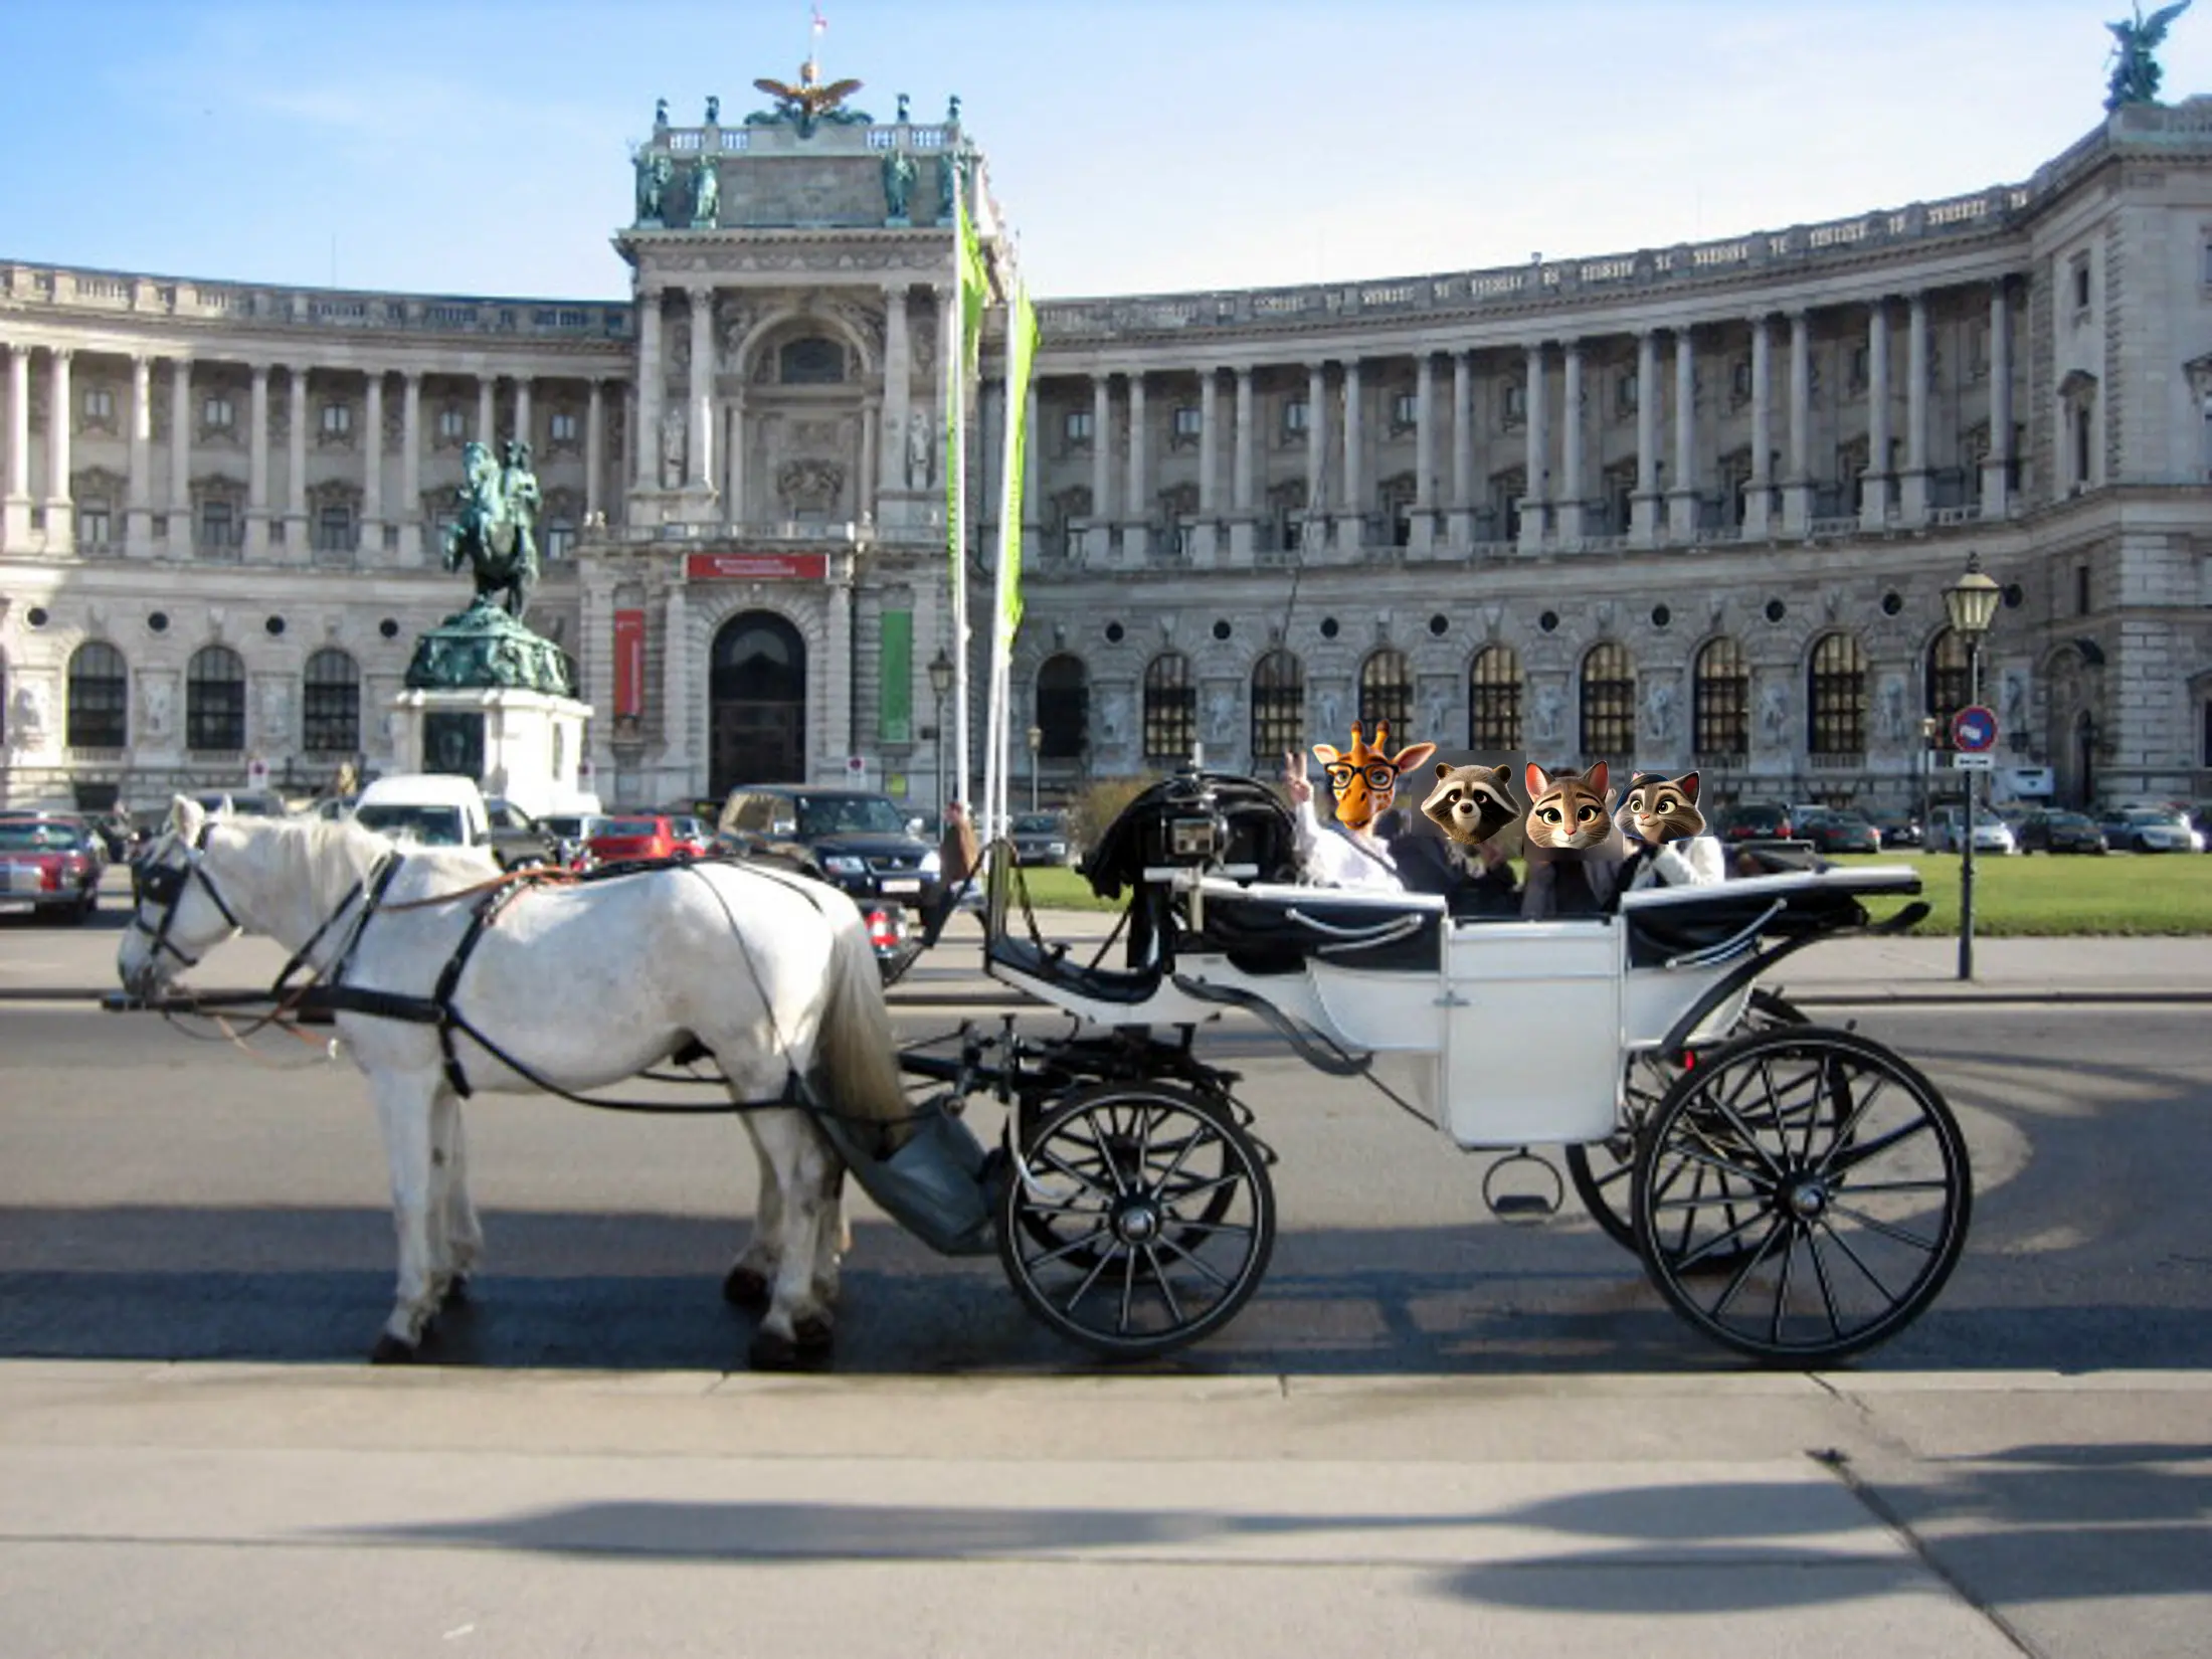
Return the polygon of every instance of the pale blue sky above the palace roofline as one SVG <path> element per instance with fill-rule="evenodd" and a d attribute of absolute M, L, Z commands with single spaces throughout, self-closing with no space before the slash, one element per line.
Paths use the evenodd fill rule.
<path fill-rule="evenodd" d="M 2119 0 L 823 0 L 960 93 L 1046 296 L 1630 250 L 2026 177 Z M 2212 91 L 2212 4 L 2166 95 Z M 619 296 L 626 144 L 761 100 L 805 0 L 0 0 L 0 257 Z"/>

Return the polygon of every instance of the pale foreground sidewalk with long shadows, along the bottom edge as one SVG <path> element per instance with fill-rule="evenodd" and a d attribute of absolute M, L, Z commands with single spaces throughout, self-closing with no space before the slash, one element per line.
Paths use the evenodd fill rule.
<path fill-rule="evenodd" d="M 0 1599 L 20 1659 L 2179 1659 L 2208 1440 L 2179 1374 L 18 1360 Z"/>

